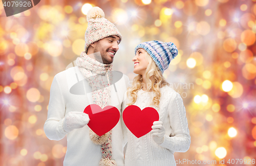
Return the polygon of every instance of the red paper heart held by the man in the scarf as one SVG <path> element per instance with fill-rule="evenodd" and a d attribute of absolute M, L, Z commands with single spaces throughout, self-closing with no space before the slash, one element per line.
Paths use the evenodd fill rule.
<path fill-rule="evenodd" d="M 110 105 L 101 109 L 97 104 L 90 104 L 83 112 L 89 115 L 88 126 L 99 136 L 114 128 L 120 118 L 119 110 Z"/>

